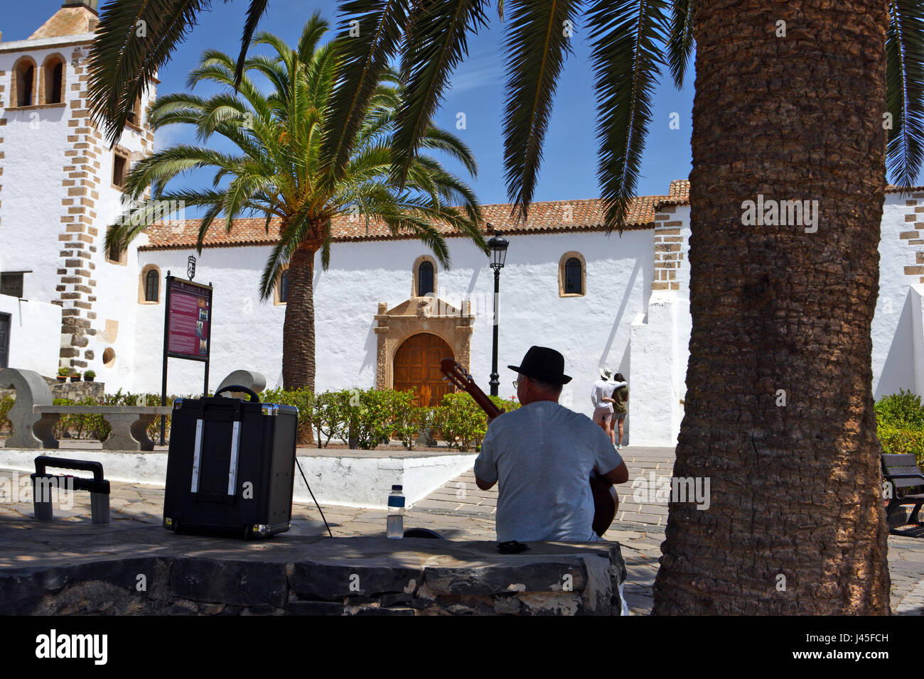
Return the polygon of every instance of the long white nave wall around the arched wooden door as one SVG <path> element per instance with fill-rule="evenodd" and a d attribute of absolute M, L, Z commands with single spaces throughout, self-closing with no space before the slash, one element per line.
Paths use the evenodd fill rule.
<path fill-rule="evenodd" d="M 653 273 L 649 230 L 623 236 L 601 233 L 507 236 L 510 247 L 501 273 L 499 359 L 500 395 L 515 393 L 517 365 L 530 345 L 552 346 L 565 355 L 574 377 L 563 403 L 590 414 L 590 384 L 605 365 L 628 374 L 629 325 L 645 308 Z M 472 372 L 487 391 L 491 373 L 493 273 L 488 258 L 461 238 L 448 241 L 452 267 L 438 267 L 437 296 L 459 307 L 472 302 Z M 558 296 L 558 262 L 569 250 L 587 261 L 585 297 Z M 162 275 L 186 276 L 189 250 L 145 250 L 137 270 L 156 263 Z M 199 256 L 196 281 L 212 282 L 213 346 L 210 388 L 232 370 L 258 370 L 268 386 L 282 384 L 282 332 L 285 306 L 261 302 L 258 286 L 270 249 L 213 248 Z M 429 250 L 413 240 L 335 244 L 331 267 L 316 261 L 314 303 L 317 339 L 316 390 L 375 384 L 376 335 L 373 316 L 379 302 L 389 308 L 410 296 L 414 261 Z M 131 295 L 137 300 L 137 281 Z M 164 307 L 134 301 L 136 347 L 132 391 L 160 391 Z M 201 391 L 200 363 L 170 359 L 167 390 Z M 107 383 L 108 388 L 108 383 Z"/>

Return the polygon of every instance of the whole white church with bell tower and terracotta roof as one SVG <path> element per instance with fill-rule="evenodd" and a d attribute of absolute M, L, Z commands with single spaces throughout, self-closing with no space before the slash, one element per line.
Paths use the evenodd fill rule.
<path fill-rule="evenodd" d="M 52 376 L 94 370 L 106 391 L 159 392 L 164 276 L 213 285 L 210 388 L 232 370 L 282 385 L 286 281 L 263 302 L 259 282 L 277 226 L 218 225 L 196 252 L 198 224 L 159 224 L 118 261 L 103 249 L 121 212 L 131 164 L 154 135 L 141 115 L 114 149 L 86 105 L 91 0 L 67 2 L 29 39 L 0 42 L 0 367 Z M 138 111 L 154 97 L 149 91 Z M 599 200 L 534 203 L 526 224 L 509 205 L 484 206 L 486 236 L 509 241 L 500 278 L 500 395 L 515 394 L 531 345 L 565 355 L 574 380 L 562 402 L 590 414 L 599 369 L 629 382 L 627 443 L 673 445 L 683 417 L 690 334 L 687 181 L 638 197 L 623 234 L 607 236 Z M 918 191 L 919 189 L 915 189 Z M 924 394 L 924 192 L 886 194 L 880 299 L 873 321 L 873 391 Z M 333 226 L 330 268 L 315 263 L 316 391 L 417 386 L 433 402 L 446 386 L 436 366 L 452 356 L 485 391 L 491 373 L 493 273 L 468 239 L 445 232 L 452 267 L 418 240 Z M 201 391 L 201 363 L 170 360 L 168 392 Z M 2 385 L 0 385 L 2 386 Z M 442 390 L 442 391 L 441 391 Z"/>

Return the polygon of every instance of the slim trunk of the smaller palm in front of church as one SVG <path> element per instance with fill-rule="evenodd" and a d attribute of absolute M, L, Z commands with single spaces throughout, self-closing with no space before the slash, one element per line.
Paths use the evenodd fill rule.
<path fill-rule="evenodd" d="M 283 388 L 314 392 L 314 253 L 302 243 L 288 268 L 288 301 L 283 325 Z"/>

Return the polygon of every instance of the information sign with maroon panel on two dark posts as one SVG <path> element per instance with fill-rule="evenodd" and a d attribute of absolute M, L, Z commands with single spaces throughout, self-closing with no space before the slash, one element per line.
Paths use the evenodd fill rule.
<path fill-rule="evenodd" d="M 205 363 L 202 395 L 209 394 L 209 358 L 212 355 L 212 285 L 201 285 L 167 272 L 164 303 L 164 370 L 161 406 L 167 403 L 167 358 L 185 358 Z M 166 416 L 161 416 L 161 445 L 164 445 Z"/>

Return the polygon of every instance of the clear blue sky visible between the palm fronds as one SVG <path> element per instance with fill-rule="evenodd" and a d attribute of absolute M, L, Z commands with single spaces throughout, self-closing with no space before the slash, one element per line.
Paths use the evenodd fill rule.
<path fill-rule="evenodd" d="M 101 4 L 104 0 L 101 0 Z M 158 94 L 185 89 L 189 70 L 195 67 L 203 50 L 217 48 L 230 55 L 239 50 L 240 30 L 246 0 L 225 5 L 213 2 L 213 9 L 200 15 L 200 25 L 176 50 L 160 73 Z M 28 38 L 51 17 L 60 2 L 33 0 L 5 6 L 0 30 L 3 41 Z M 314 9 L 335 24 L 335 3 L 330 0 L 271 0 L 261 30 L 269 30 L 290 43 L 298 40 L 304 21 Z M 444 99 L 436 124 L 456 131 L 471 147 L 479 164 L 479 176 L 469 181 L 484 204 L 507 202 L 503 166 L 502 119 L 504 112 L 504 60 L 501 46 L 504 24 L 492 9 L 487 30 L 470 38 L 468 60 L 456 69 L 453 89 Z M 553 116 L 543 148 L 543 161 L 534 200 L 579 200 L 598 198 L 596 105 L 590 68 L 588 31 L 577 25 L 569 56 L 559 80 Z M 687 85 L 676 91 L 665 71 L 654 98 L 646 150 L 643 156 L 638 195 L 663 194 L 672 179 L 686 179 L 690 171 L 690 119 L 693 107 L 692 67 Z M 199 93 L 208 93 L 197 88 Z M 464 112 L 467 128 L 456 130 L 456 114 Z M 679 129 L 669 127 L 670 115 L 679 114 Z M 193 142 L 194 135 L 177 126 L 158 132 L 157 148 L 178 141 Z M 447 162 L 461 174 L 460 165 Z M 175 180 L 176 181 L 176 180 Z M 196 181 L 198 184 L 199 182 Z"/>

